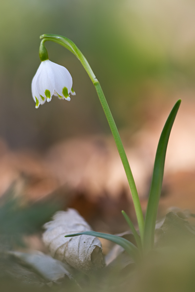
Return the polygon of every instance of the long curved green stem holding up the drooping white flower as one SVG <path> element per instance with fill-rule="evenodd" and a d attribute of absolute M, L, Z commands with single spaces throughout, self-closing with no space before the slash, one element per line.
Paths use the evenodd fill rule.
<path fill-rule="evenodd" d="M 132 193 L 132 197 L 133 197 L 133 201 L 134 201 L 134 206 L 135 206 L 135 210 L 136 210 L 136 215 L 137 215 L 137 222 L 138 222 L 138 226 L 139 226 L 139 232 L 140 232 L 140 237 L 141 240 L 143 240 L 143 233 L 144 233 L 144 219 L 143 219 L 143 213 L 141 210 L 141 205 L 140 205 L 140 201 L 139 201 L 139 197 L 137 194 L 137 188 L 136 188 L 136 184 L 133 178 L 133 174 L 124 150 L 124 147 L 122 145 L 122 141 L 120 139 L 118 130 L 117 130 L 117 126 L 115 124 L 114 118 L 112 116 L 112 113 L 110 111 L 110 108 L 108 106 L 108 103 L 106 101 L 106 98 L 104 96 L 104 93 L 101 89 L 101 86 L 95 76 L 95 74 L 93 73 L 88 61 L 86 60 L 86 58 L 84 57 L 84 55 L 82 55 L 82 53 L 80 52 L 80 50 L 78 49 L 78 47 L 74 44 L 74 42 L 72 42 L 70 39 L 68 39 L 67 37 L 62 37 L 62 36 L 58 36 L 58 35 L 42 35 L 40 36 L 40 38 L 42 39 L 41 43 L 44 44 L 45 41 L 51 40 L 53 42 L 58 43 L 59 45 L 62 45 L 63 47 L 65 47 L 66 49 L 68 49 L 70 52 L 72 52 L 74 55 L 77 56 L 77 58 L 79 59 L 79 61 L 81 62 L 81 64 L 83 65 L 84 69 L 86 70 L 86 72 L 88 73 L 89 77 L 91 78 L 96 91 L 98 93 L 98 97 L 101 103 L 101 106 L 104 110 L 104 113 L 106 115 L 108 124 L 111 128 L 112 134 L 114 136 L 115 139 L 115 143 L 117 145 L 117 149 L 122 161 L 122 164 L 124 166 L 125 169 L 125 173 L 127 176 L 127 180 L 131 189 L 131 193 Z"/>

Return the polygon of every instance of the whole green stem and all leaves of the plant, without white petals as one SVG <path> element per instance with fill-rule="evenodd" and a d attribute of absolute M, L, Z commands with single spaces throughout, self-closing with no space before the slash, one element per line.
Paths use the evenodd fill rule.
<path fill-rule="evenodd" d="M 129 186 L 131 189 L 131 193 L 132 193 L 134 207 L 135 207 L 135 211 L 136 211 L 136 215 L 137 215 L 139 234 L 140 234 L 140 236 L 139 236 L 132 221 L 130 220 L 130 218 L 127 216 L 127 214 L 124 211 L 122 211 L 124 218 L 126 219 L 127 223 L 130 226 L 130 229 L 132 230 L 132 232 L 134 234 L 134 237 L 135 237 L 136 242 L 137 242 L 137 247 L 133 243 L 128 241 L 127 239 L 117 237 L 115 235 L 103 234 L 103 233 L 98 233 L 98 232 L 94 232 L 94 231 L 85 231 L 82 233 L 67 235 L 66 237 L 75 237 L 75 236 L 80 236 L 80 235 L 91 235 L 91 236 L 102 237 L 102 238 L 111 240 L 111 241 L 119 244 L 120 246 L 122 246 L 126 250 L 126 252 L 129 253 L 134 258 L 134 260 L 137 262 L 142 257 L 142 255 L 143 255 L 142 253 L 148 253 L 154 246 L 155 223 L 156 223 L 157 208 L 158 208 L 158 203 L 159 203 L 159 198 L 160 198 L 160 193 L 161 193 L 161 188 L 162 188 L 166 149 L 167 149 L 167 145 L 168 145 L 170 132 L 171 132 L 172 126 L 174 124 L 176 114 L 177 114 L 177 111 L 179 109 L 181 100 L 178 100 L 176 102 L 176 105 L 174 106 L 173 110 L 171 111 L 171 113 L 170 113 L 170 115 L 165 123 L 165 126 L 162 130 L 161 136 L 160 136 L 160 140 L 159 140 L 157 151 L 156 151 L 156 159 L 155 159 L 155 165 L 154 165 L 148 207 L 147 207 L 147 212 L 146 212 L 146 219 L 144 222 L 139 197 L 137 194 L 136 184 L 135 184 L 135 181 L 133 178 L 133 174 L 132 174 L 124 147 L 122 145 L 122 141 L 120 139 L 120 136 L 119 136 L 119 133 L 117 130 L 117 126 L 115 124 L 114 118 L 112 116 L 112 113 L 110 111 L 110 108 L 108 106 L 106 98 L 104 96 L 104 93 L 101 89 L 101 86 L 98 82 L 98 79 L 96 78 L 95 74 L 93 73 L 88 61 L 86 60 L 84 55 L 82 55 L 82 53 L 80 52 L 78 47 L 74 44 L 74 42 L 72 42 L 67 37 L 46 34 L 46 35 L 40 36 L 40 38 L 42 39 L 41 45 L 40 45 L 40 51 L 39 51 L 40 58 L 44 59 L 48 56 L 47 50 L 44 47 L 44 42 L 49 41 L 49 40 L 56 42 L 77 56 L 77 58 L 79 59 L 79 61 L 83 65 L 84 69 L 88 73 L 89 77 L 91 78 L 91 80 L 96 88 L 96 91 L 98 93 L 99 101 L 100 101 L 101 106 L 102 106 L 104 113 L 106 115 L 108 124 L 111 128 L 113 137 L 114 137 L 116 145 L 117 145 L 118 153 L 120 155 L 122 164 L 123 164 L 124 169 L 125 169 L 127 180 L 128 180 L 128 183 L 129 183 Z M 63 90 L 63 94 L 64 94 L 64 96 L 67 94 L 65 88 Z"/>

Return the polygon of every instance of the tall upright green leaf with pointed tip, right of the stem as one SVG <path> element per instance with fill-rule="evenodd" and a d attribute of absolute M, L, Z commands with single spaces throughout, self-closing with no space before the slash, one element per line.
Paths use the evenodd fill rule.
<path fill-rule="evenodd" d="M 167 145 L 168 145 L 171 129 L 173 127 L 180 103 L 181 103 L 181 100 L 179 99 L 176 102 L 173 110 L 171 111 L 165 123 L 165 126 L 162 130 L 162 133 L 158 142 L 157 150 L 156 150 L 156 158 L 155 158 L 153 177 L 152 177 L 152 183 L 151 183 L 151 188 L 150 188 L 150 195 L 149 195 L 148 206 L 147 206 L 147 211 L 146 211 L 145 228 L 144 228 L 144 248 L 146 251 L 151 250 L 151 248 L 153 248 L 153 245 L 154 245 L 156 215 L 157 215 L 158 203 L 160 199 L 160 193 L 162 189 L 166 150 L 167 150 Z"/>

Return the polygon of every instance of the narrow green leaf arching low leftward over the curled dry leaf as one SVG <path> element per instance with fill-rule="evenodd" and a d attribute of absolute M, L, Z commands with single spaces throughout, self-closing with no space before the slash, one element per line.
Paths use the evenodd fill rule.
<path fill-rule="evenodd" d="M 137 247 L 130 242 L 129 240 L 116 236 L 116 235 L 112 235 L 112 234 L 106 234 L 106 233 L 100 233 L 100 232 L 95 232 L 95 231 L 84 231 L 84 232 L 80 232 L 80 233 L 76 233 L 76 234 L 70 234 L 70 235 L 66 235 L 65 237 L 75 237 L 75 236 L 79 236 L 79 235 L 91 235 L 91 236 L 95 236 L 95 237 L 101 237 L 101 238 L 105 238 L 108 239 L 110 241 L 113 241 L 115 243 L 117 243 L 118 245 L 122 246 L 124 248 L 124 250 L 130 255 L 132 256 L 132 258 L 135 260 L 135 262 L 137 262 L 137 260 L 139 259 L 139 252 Z"/>

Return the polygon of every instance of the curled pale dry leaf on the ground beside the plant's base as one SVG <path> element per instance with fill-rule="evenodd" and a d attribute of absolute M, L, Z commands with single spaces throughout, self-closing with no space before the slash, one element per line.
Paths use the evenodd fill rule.
<path fill-rule="evenodd" d="M 64 237 L 92 230 L 87 222 L 74 209 L 59 211 L 44 225 L 43 242 L 51 256 L 67 262 L 85 274 L 90 274 L 104 266 L 101 242 L 97 237 L 81 235 Z"/>

